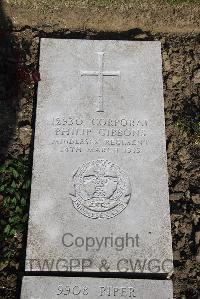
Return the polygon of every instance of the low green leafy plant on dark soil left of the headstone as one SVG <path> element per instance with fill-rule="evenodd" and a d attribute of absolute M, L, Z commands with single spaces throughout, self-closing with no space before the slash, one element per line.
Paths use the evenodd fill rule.
<path fill-rule="evenodd" d="M 14 256 L 19 235 L 26 228 L 30 178 L 25 158 L 10 158 L 0 166 L 0 242 L 2 259 Z"/>

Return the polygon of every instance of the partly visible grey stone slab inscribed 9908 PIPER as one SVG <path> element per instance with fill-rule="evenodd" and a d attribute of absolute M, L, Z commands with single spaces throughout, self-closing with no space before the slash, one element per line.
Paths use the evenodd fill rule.
<path fill-rule="evenodd" d="M 172 299 L 172 283 L 163 280 L 134 280 L 91 277 L 23 278 L 21 299 L 140 298 Z"/>

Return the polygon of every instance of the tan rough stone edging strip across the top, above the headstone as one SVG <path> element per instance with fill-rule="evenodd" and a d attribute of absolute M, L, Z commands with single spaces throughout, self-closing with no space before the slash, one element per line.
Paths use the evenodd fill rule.
<path fill-rule="evenodd" d="M 200 0 L 3 0 L 14 27 L 58 30 L 199 32 Z M 178 4 L 172 5 L 173 2 Z"/>

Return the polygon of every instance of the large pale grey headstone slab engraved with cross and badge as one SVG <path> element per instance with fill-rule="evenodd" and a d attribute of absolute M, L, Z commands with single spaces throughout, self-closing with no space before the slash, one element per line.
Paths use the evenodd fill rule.
<path fill-rule="evenodd" d="M 160 43 L 40 55 L 26 270 L 169 273 Z"/>

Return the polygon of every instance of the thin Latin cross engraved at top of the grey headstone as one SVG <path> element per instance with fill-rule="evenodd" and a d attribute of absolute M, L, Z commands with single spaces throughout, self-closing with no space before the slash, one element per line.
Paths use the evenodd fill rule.
<path fill-rule="evenodd" d="M 104 52 L 97 52 L 99 58 L 99 70 L 98 71 L 81 71 L 81 76 L 97 76 L 98 77 L 98 110 L 97 112 L 104 112 L 103 105 L 103 78 L 104 76 L 120 76 L 119 71 L 104 71 Z"/>

